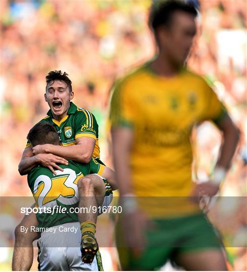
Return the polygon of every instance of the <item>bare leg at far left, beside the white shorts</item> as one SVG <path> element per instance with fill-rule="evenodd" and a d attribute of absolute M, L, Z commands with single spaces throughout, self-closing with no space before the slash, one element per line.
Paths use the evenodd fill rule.
<path fill-rule="evenodd" d="M 33 206 L 32 206 L 33 207 Z M 33 241 L 39 238 L 39 233 L 31 232 L 30 226 L 38 226 L 36 215 L 26 215 L 15 228 L 15 247 L 12 259 L 12 270 L 29 270 L 33 262 Z M 21 231 L 25 227 L 27 233 Z"/>

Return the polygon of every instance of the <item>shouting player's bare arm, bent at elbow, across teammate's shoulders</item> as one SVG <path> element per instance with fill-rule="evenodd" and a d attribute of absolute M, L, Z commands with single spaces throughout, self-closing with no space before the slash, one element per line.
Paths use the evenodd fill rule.
<path fill-rule="evenodd" d="M 52 153 L 77 162 L 89 163 L 92 158 L 95 143 L 94 138 L 80 137 L 76 139 L 76 145 L 67 147 L 54 146 L 51 144 L 38 145 L 33 148 L 33 152 L 34 154 Z"/>

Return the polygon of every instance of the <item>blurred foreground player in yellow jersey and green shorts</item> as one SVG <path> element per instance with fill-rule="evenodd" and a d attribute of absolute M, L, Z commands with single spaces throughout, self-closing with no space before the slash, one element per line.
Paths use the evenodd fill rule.
<path fill-rule="evenodd" d="M 239 132 L 211 87 L 184 66 L 195 18 L 194 7 L 182 2 L 153 7 L 157 57 L 113 86 L 113 156 L 123 208 L 117 246 L 124 270 L 153 270 L 168 259 L 186 270 L 227 270 L 220 239 L 190 196 L 218 192 Z M 214 176 L 194 185 L 190 135 L 204 120 L 217 125 L 223 143 Z"/>

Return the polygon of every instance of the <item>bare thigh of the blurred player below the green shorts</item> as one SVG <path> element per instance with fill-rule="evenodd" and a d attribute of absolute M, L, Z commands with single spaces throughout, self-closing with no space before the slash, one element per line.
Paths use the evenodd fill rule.
<path fill-rule="evenodd" d="M 176 263 L 189 271 L 228 270 L 222 250 L 216 248 L 181 253 L 177 256 Z"/>

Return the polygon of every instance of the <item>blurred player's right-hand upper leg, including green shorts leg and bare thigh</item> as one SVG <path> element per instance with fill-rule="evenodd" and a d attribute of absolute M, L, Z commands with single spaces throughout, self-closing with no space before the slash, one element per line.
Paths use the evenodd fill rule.
<path fill-rule="evenodd" d="M 220 233 L 203 214 L 177 221 L 182 234 L 175 262 L 186 270 L 227 270 Z"/>

